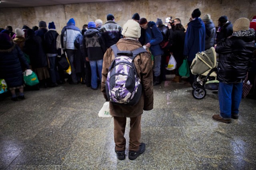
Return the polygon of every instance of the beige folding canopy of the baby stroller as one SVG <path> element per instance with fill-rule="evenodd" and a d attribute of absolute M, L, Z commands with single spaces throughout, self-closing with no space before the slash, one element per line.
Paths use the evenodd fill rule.
<path fill-rule="evenodd" d="M 217 66 L 216 52 L 214 47 L 196 53 L 196 57 L 190 66 L 192 74 L 204 74 Z"/>

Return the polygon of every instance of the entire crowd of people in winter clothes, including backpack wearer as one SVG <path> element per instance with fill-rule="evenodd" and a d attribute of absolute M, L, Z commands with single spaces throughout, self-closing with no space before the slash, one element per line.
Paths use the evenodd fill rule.
<path fill-rule="evenodd" d="M 212 118 L 217 121 L 231 123 L 231 118 L 238 119 L 243 80 L 247 72 L 254 84 L 252 91 L 255 95 L 256 62 L 253 52 L 256 16 L 251 22 L 247 18 L 239 18 L 234 24 L 227 16 L 220 16 L 217 27 L 210 14 L 200 16 L 200 10 L 195 9 L 186 29 L 179 18 L 169 18 L 167 25 L 164 25 L 159 18 L 156 22 L 148 21 L 140 18 L 138 13 L 123 28 L 115 22 L 112 14 L 107 15 L 106 23 L 103 24 L 100 19 L 90 21 L 82 30 L 76 27 L 75 20 L 71 18 L 60 35 L 54 22 L 48 24 L 48 29 L 45 21 L 40 21 L 38 27 L 32 29 L 24 25 L 22 29 L 16 28 L 15 33 L 7 25 L 0 33 L 0 78 L 6 80 L 13 101 L 24 99 L 22 71 L 31 68 L 42 86 L 56 87 L 66 82 L 65 70 L 58 64 L 58 56 L 66 55 L 71 68 L 69 84 L 82 83 L 93 90 L 101 86 L 104 98 L 108 100 L 105 81 L 108 68 L 115 59 L 112 45 L 126 53 L 143 46 L 148 52 L 134 58 L 134 67 L 142 84 L 139 102 L 132 107 L 110 103 L 110 115 L 114 117 L 115 152 L 118 159 L 125 158 L 124 129 L 126 117 L 130 117 L 129 159 L 134 160 L 146 147 L 140 143 L 141 115 L 143 110 L 153 109 L 153 86 L 166 80 L 166 64 L 170 55 L 177 63 L 172 81 L 178 83 L 181 81 L 178 70 L 183 59 L 186 58 L 190 66 L 196 53 L 216 48 L 219 54 L 217 80 L 220 82 L 220 114 Z M 191 70 L 188 80 L 191 84 L 196 81 L 196 75 Z M 18 97 L 16 89 L 20 92 Z"/>

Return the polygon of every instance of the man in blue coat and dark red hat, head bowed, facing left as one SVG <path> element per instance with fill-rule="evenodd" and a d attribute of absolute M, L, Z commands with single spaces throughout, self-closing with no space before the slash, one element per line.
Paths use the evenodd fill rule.
<path fill-rule="evenodd" d="M 163 41 L 163 35 L 161 31 L 156 27 L 156 23 L 153 21 L 147 21 L 146 18 L 141 18 L 139 21 L 140 27 L 145 29 L 144 40 L 146 48 L 149 48 L 152 55 L 154 56 L 154 80 L 153 85 L 160 84 L 160 66 L 161 56 L 164 54 L 160 47 L 160 43 Z M 143 36 L 143 35 L 142 35 Z"/>

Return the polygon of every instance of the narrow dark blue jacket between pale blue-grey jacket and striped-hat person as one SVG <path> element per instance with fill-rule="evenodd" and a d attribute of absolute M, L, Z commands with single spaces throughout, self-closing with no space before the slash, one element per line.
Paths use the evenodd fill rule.
<path fill-rule="evenodd" d="M 76 73 L 84 72 L 84 62 L 85 62 L 85 55 L 84 55 L 84 36 L 78 35 L 74 42 L 76 50 L 76 55 L 74 58 L 74 64 L 76 66 Z"/>

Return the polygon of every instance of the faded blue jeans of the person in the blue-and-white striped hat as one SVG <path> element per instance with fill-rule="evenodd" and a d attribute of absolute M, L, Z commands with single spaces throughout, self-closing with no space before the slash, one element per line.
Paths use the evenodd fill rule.
<path fill-rule="evenodd" d="M 98 76 L 101 82 L 102 63 L 103 63 L 103 59 L 90 61 L 91 72 L 92 72 L 92 79 L 91 79 L 92 88 L 98 87 Z M 98 70 L 98 76 L 97 76 L 97 70 Z"/>

